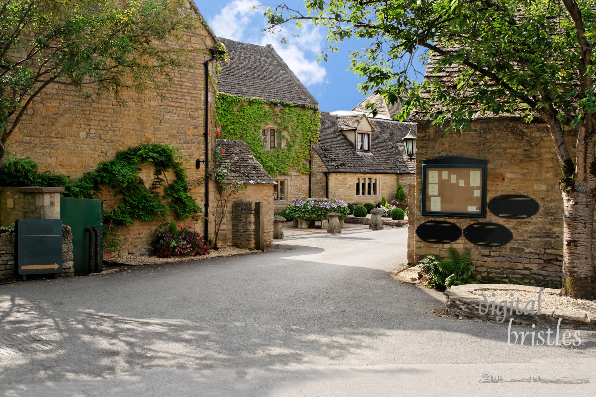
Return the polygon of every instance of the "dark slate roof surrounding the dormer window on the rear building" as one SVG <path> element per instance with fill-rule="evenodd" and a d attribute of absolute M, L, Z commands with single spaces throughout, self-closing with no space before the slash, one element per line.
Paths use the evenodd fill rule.
<path fill-rule="evenodd" d="M 415 157 L 409 160 L 402 138 L 412 131 L 415 123 L 368 118 L 373 126 L 371 153 L 358 154 L 352 142 L 340 131 L 335 114 L 321 112 L 319 143 L 313 145 L 329 172 L 336 173 L 415 173 Z M 346 117 L 346 116 L 343 116 Z M 351 117 L 351 116 L 348 116 Z"/>

